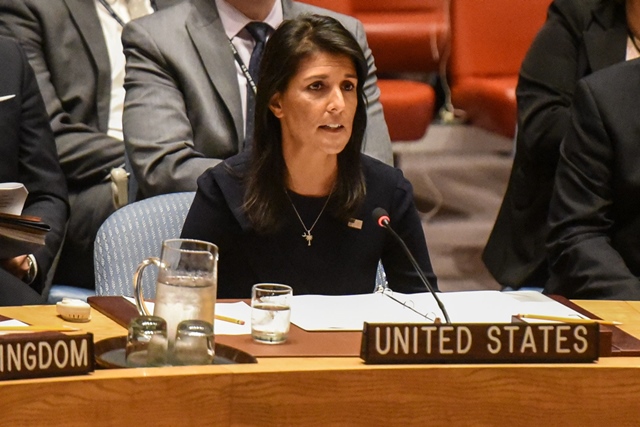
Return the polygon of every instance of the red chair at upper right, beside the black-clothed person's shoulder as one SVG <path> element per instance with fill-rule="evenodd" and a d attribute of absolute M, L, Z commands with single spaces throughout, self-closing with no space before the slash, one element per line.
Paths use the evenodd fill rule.
<path fill-rule="evenodd" d="M 515 135 L 522 60 L 551 0 L 451 0 L 451 101 L 468 121 Z"/>

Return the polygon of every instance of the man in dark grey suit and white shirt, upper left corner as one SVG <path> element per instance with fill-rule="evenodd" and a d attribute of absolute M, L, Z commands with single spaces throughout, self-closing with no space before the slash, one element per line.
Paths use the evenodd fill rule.
<path fill-rule="evenodd" d="M 175 1 L 153 3 L 162 8 Z M 147 12 L 151 6 L 147 1 Z M 22 44 L 36 73 L 69 188 L 71 216 L 56 283 L 93 288 L 96 232 L 126 203 L 114 201 L 111 179 L 125 163 L 125 60 L 116 16 L 130 19 L 125 0 L 0 2 L 0 31 Z"/>

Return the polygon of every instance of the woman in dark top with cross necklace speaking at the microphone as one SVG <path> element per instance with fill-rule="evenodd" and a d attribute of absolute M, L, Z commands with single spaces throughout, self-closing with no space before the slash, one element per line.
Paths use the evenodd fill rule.
<path fill-rule="evenodd" d="M 182 230 L 219 247 L 218 298 L 247 298 L 259 282 L 298 295 L 369 293 L 379 261 L 393 290 L 426 291 L 372 218 L 377 207 L 436 287 L 411 184 L 361 154 L 366 70 L 356 40 L 329 17 L 285 21 L 269 39 L 252 149 L 198 179 Z"/>

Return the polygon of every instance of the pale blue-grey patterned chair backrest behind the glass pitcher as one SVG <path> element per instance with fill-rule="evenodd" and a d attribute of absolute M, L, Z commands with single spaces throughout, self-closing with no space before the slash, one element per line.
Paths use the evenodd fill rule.
<path fill-rule="evenodd" d="M 180 237 L 195 192 L 163 194 L 115 211 L 98 230 L 94 248 L 97 295 L 133 295 L 133 274 L 147 257 L 159 257 L 162 241 Z M 147 268 L 145 298 L 155 296 L 157 271 Z"/>

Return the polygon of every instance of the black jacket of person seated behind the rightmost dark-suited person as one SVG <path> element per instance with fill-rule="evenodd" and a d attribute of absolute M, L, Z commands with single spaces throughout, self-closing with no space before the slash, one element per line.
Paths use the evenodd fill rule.
<path fill-rule="evenodd" d="M 482 255 L 504 286 L 543 286 L 549 277 L 547 214 L 578 79 L 624 61 L 624 3 L 555 0 L 529 49 L 516 96 L 518 132 L 507 191 Z"/>

